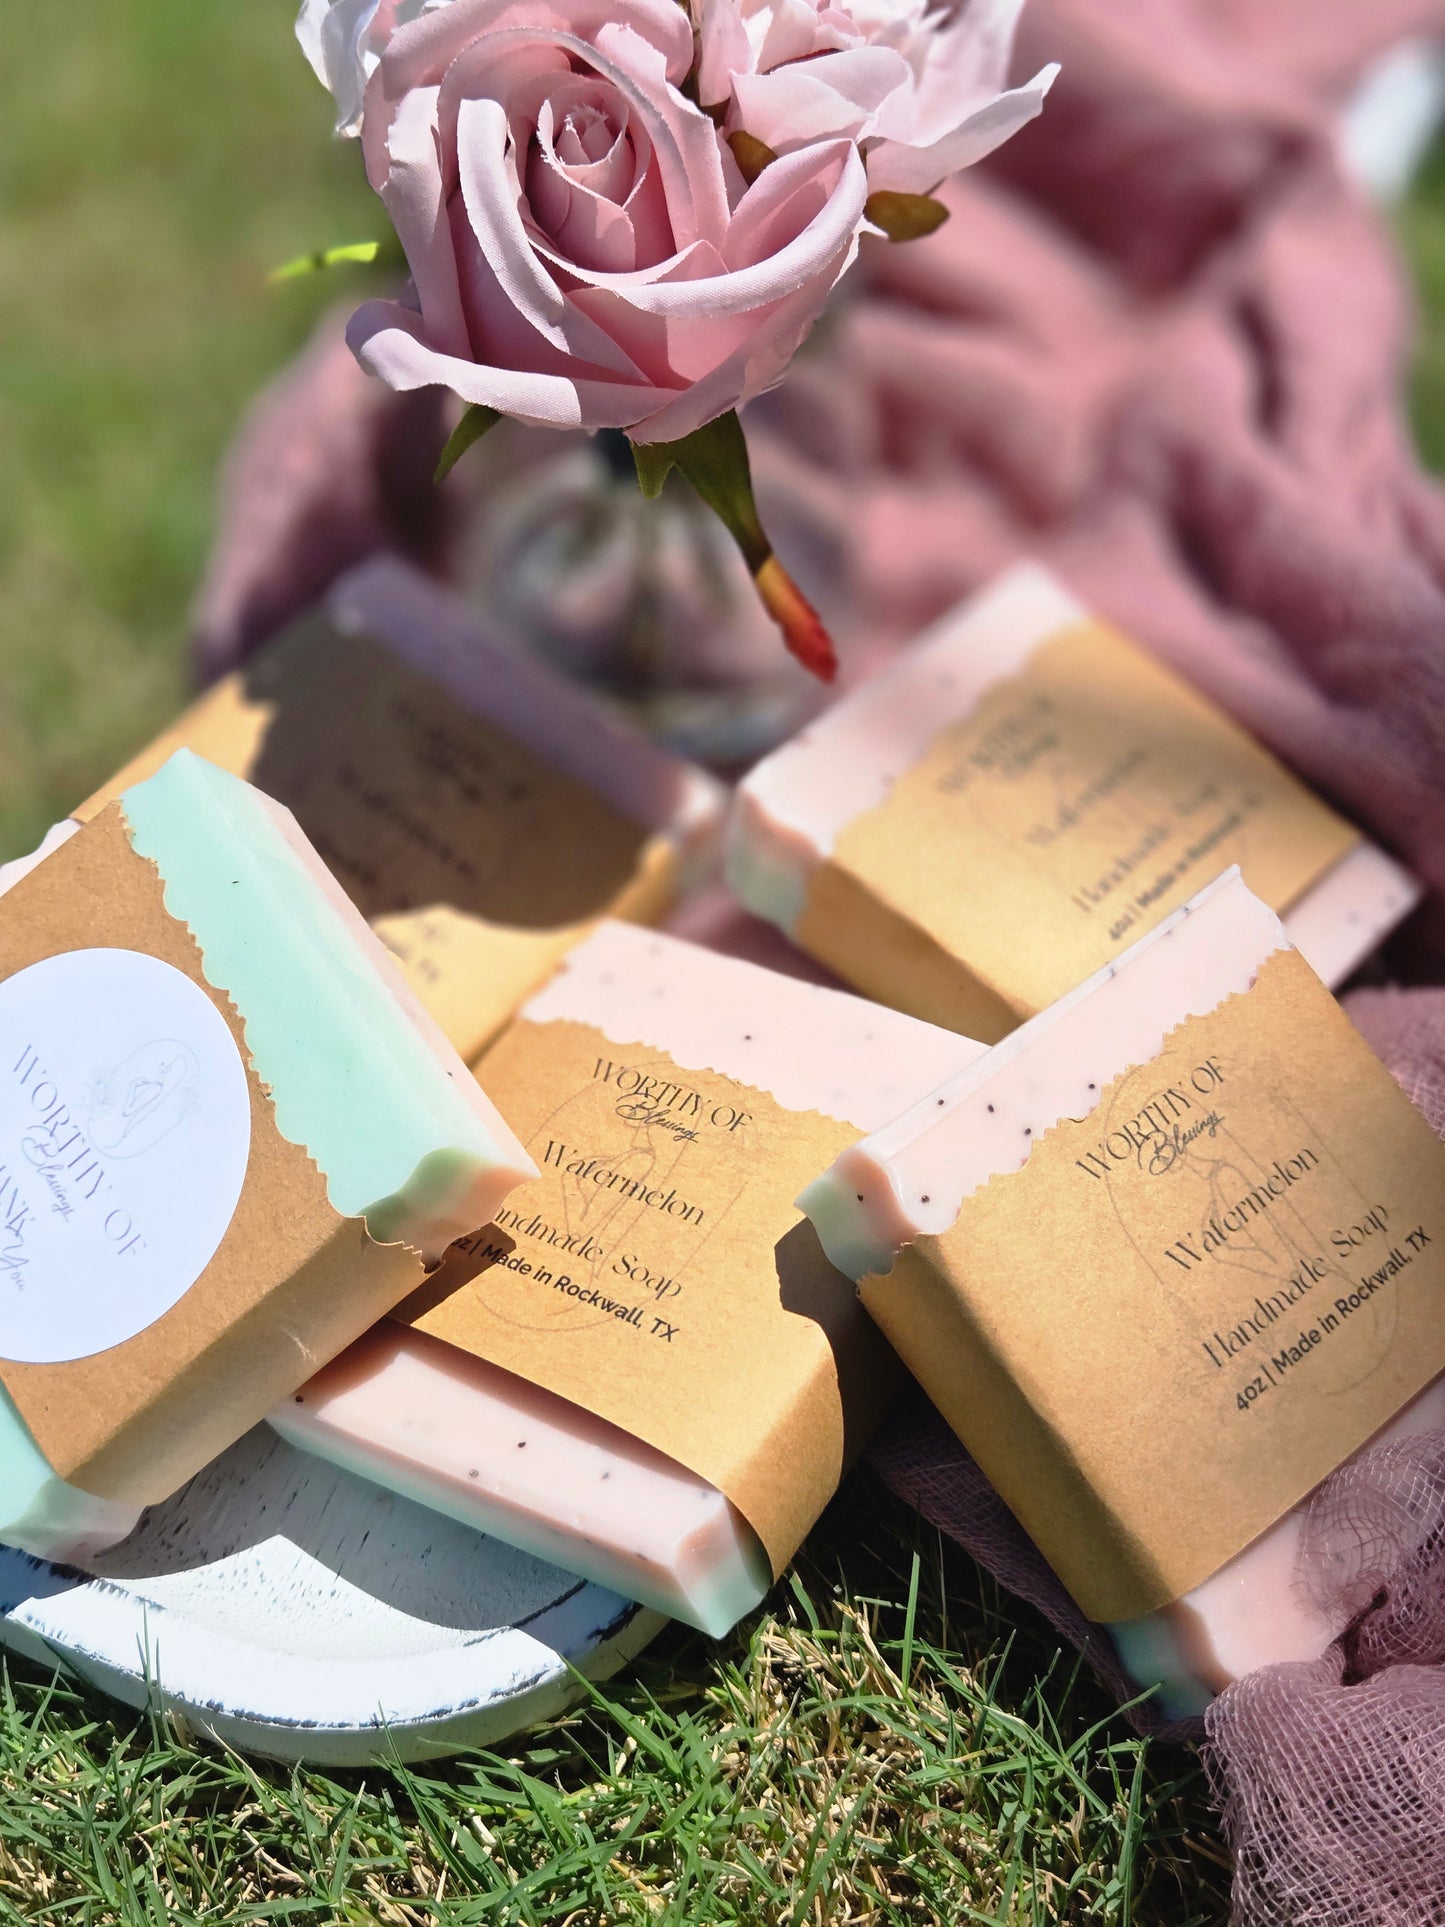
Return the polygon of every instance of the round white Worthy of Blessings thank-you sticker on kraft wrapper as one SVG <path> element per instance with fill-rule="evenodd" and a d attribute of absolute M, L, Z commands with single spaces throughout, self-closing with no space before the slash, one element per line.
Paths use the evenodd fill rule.
<path fill-rule="evenodd" d="M 216 1256 L 249 1154 L 241 1052 L 171 964 L 69 950 L 0 983 L 0 1359 L 154 1324 Z"/>

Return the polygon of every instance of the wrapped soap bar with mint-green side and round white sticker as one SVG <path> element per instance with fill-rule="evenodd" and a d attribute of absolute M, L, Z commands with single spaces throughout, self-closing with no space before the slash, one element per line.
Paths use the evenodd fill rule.
<path fill-rule="evenodd" d="M 173 755 L 0 902 L 0 1540 L 121 1538 L 534 1172 L 295 819 Z"/>

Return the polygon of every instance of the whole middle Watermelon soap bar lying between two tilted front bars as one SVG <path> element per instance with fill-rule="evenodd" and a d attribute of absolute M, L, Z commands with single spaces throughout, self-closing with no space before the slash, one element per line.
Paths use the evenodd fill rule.
<path fill-rule="evenodd" d="M 794 1197 L 977 1052 L 603 923 L 480 1068 L 539 1177 L 272 1422 L 726 1632 L 896 1387 Z"/>

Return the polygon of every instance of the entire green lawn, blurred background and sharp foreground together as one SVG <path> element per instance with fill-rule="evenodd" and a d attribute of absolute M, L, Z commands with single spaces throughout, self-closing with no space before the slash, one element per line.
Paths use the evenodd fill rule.
<path fill-rule="evenodd" d="M 218 459 L 378 233 L 295 0 L 0 0 L 0 852 L 179 703 Z M 1445 152 L 1403 214 L 1445 466 Z M 1225 1915 L 1193 1755 L 859 1476 L 713 1648 L 428 1771 L 249 1765 L 37 1669 L 0 1698 L 0 1919 L 933 1923 Z"/>

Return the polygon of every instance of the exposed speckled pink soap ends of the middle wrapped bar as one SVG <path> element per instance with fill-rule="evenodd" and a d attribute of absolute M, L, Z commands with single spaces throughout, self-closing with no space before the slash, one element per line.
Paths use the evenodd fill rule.
<path fill-rule="evenodd" d="M 622 923 L 578 944 L 522 1016 L 595 1025 L 618 1046 L 651 1044 L 686 1069 L 742 1079 L 859 1131 L 981 1050 L 846 992 Z M 736 1624 L 771 1584 L 751 1526 L 717 1488 L 590 1412 L 395 1324 L 272 1422 L 353 1472 L 705 1632 Z"/>

